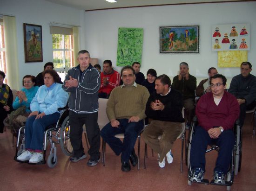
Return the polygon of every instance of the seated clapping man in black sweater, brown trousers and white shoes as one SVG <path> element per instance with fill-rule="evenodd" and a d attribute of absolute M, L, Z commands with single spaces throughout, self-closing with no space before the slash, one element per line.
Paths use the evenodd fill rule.
<path fill-rule="evenodd" d="M 165 157 L 170 164 L 173 162 L 171 148 L 182 131 L 182 95 L 170 88 L 170 78 L 163 74 L 155 79 L 155 90 L 146 105 L 145 114 L 152 119 L 142 134 L 144 141 L 159 153 L 158 164 L 165 166 Z M 161 136 L 161 140 L 158 137 Z"/>

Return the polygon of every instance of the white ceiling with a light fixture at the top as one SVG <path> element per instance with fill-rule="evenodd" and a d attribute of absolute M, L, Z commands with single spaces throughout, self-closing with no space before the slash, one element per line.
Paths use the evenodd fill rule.
<path fill-rule="evenodd" d="M 92 11 L 99 9 L 113 9 L 121 7 L 134 6 L 154 6 L 185 3 L 209 3 L 209 2 L 227 2 L 227 1 L 247 1 L 247 0 L 117 0 L 115 3 L 109 3 L 105 0 L 47 0 L 56 4 L 74 7 L 77 9 Z"/>

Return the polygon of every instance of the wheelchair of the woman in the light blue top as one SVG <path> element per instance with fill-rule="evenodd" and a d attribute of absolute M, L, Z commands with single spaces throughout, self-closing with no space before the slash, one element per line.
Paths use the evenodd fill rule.
<path fill-rule="evenodd" d="M 17 137 L 17 145 L 16 145 L 16 153 L 14 156 L 14 160 L 20 163 L 28 163 L 28 164 L 34 164 L 34 165 L 40 165 L 45 164 L 50 168 L 54 168 L 57 165 L 57 149 L 55 144 L 61 144 L 61 150 L 62 152 L 67 155 L 71 156 L 73 153 L 73 147 L 70 143 L 70 127 L 69 127 L 69 115 L 68 115 L 68 108 L 60 108 L 61 116 L 56 124 L 50 125 L 46 128 L 46 131 L 44 133 L 44 142 L 43 142 L 43 160 L 39 163 L 29 163 L 28 161 L 20 161 L 17 159 L 17 157 L 25 151 L 25 126 L 20 127 Z M 46 161 L 46 149 L 47 144 L 50 143 L 51 150 L 50 154 L 47 157 Z"/>

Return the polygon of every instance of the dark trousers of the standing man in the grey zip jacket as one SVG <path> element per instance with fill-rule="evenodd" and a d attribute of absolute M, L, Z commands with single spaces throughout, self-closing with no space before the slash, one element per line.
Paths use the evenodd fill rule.
<path fill-rule="evenodd" d="M 82 144 L 83 125 L 86 127 L 86 134 L 90 144 L 88 154 L 90 159 L 98 160 L 101 156 L 101 136 L 98 125 L 98 112 L 91 114 L 76 114 L 69 111 L 70 141 L 73 146 L 73 156 L 80 157 L 84 153 Z"/>

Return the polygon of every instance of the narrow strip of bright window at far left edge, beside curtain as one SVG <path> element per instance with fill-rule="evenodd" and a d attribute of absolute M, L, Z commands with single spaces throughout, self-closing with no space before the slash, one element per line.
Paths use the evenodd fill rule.
<path fill-rule="evenodd" d="M 4 83 L 7 83 L 4 24 L 2 19 L 0 19 L 0 70 L 6 74 Z"/>

